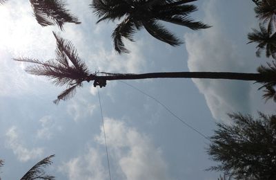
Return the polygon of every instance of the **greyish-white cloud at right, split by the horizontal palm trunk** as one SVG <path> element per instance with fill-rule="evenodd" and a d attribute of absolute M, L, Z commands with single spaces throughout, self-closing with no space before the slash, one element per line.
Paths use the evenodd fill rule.
<path fill-rule="evenodd" d="M 248 72 L 252 62 L 246 55 L 239 53 L 237 43 L 231 40 L 221 27 L 216 3 L 205 3 L 204 21 L 210 22 L 212 28 L 199 33 L 185 35 L 188 51 L 188 68 L 190 71 L 232 71 Z M 246 59 L 244 58 L 246 57 Z M 246 61 L 248 63 L 246 63 Z M 217 120 L 228 120 L 227 113 L 242 111 L 250 113 L 250 84 L 252 82 L 230 80 L 198 80 L 193 82 L 204 94 L 207 105 Z"/>

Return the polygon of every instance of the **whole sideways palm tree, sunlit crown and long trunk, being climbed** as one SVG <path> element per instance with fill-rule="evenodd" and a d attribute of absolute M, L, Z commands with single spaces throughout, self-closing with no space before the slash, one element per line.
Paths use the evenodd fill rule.
<path fill-rule="evenodd" d="M 251 80 L 262 83 L 260 87 L 275 87 L 276 63 L 269 67 L 260 66 L 259 73 L 230 73 L 230 72 L 162 72 L 162 73 L 89 73 L 86 64 L 81 62 L 72 43 L 62 39 L 54 33 L 57 39 L 57 57 L 55 60 L 41 62 L 30 58 L 14 59 L 19 62 L 30 62 L 34 66 L 28 66 L 26 71 L 33 75 L 45 75 L 57 86 L 67 85 L 55 103 L 59 100 L 67 100 L 74 95 L 77 87 L 81 87 L 84 81 L 94 81 L 94 87 L 105 87 L 107 80 L 137 80 L 148 78 L 208 78 L 226 80 Z"/>

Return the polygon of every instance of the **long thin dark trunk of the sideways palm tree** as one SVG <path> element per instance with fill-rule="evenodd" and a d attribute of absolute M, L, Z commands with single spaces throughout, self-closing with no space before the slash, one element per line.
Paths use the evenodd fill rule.
<path fill-rule="evenodd" d="M 199 78 L 199 79 L 224 79 L 246 81 L 275 81 L 273 77 L 267 77 L 260 73 L 230 73 L 230 72 L 164 72 L 164 73 L 104 73 L 106 75 L 90 75 L 90 80 L 140 80 L 150 78 Z"/>

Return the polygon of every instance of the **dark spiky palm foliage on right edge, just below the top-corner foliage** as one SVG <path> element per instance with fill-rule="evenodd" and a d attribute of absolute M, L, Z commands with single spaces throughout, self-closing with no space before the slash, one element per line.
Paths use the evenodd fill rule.
<path fill-rule="evenodd" d="M 260 30 L 253 29 L 253 33 L 248 34 L 249 43 L 257 43 L 257 57 L 260 57 L 262 51 L 266 49 L 266 57 L 272 56 L 276 60 L 276 33 L 269 35 L 268 30 L 262 24 L 259 24 Z"/>

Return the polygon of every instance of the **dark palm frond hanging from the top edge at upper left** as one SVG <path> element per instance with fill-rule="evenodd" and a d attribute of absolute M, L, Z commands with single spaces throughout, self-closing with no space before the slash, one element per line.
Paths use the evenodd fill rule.
<path fill-rule="evenodd" d="M 30 0 L 34 16 L 41 26 L 57 24 L 63 30 L 66 22 L 80 24 L 77 17 L 70 15 L 62 0 Z"/>

